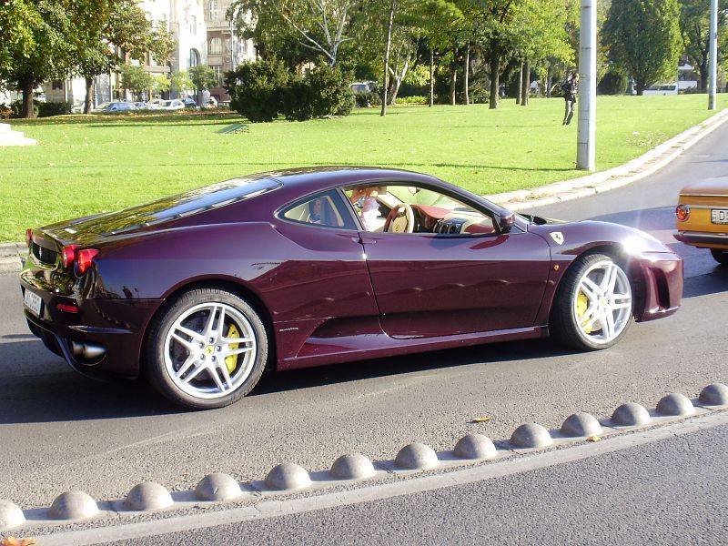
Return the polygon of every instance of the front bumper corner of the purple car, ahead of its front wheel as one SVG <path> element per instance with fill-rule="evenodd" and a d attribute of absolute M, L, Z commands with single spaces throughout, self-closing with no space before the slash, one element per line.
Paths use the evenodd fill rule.
<path fill-rule="evenodd" d="M 638 307 L 635 308 L 637 322 L 669 317 L 680 308 L 684 273 L 682 258 L 672 253 L 650 253 L 634 262 L 638 268 Z"/>

